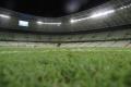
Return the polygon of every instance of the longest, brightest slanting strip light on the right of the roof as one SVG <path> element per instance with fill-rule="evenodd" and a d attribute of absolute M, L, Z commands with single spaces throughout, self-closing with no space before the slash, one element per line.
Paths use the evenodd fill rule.
<path fill-rule="evenodd" d="M 100 16 L 104 16 L 104 15 L 108 15 L 110 13 L 114 13 L 115 10 L 109 10 L 109 11 L 106 11 L 106 12 L 102 12 L 102 13 L 97 13 L 97 14 L 93 14 L 88 17 L 84 17 L 84 18 L 79 18 L 79 20 L 71 20 L 70 23 L 76 23 L 76 22 L 80 22 L 80 21 L 85 21 L 85 20 L 88 20 L 88 18 L 96 18 L 96 17 L 100 17 Z"/>

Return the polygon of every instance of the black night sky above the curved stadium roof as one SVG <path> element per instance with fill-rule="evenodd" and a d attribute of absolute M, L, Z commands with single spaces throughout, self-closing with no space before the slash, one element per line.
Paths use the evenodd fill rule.
<path fill-rule="evenodd" d="M 60 17 L 109 0 L 0 0 L 0 7 L 44 17 Z"/>

